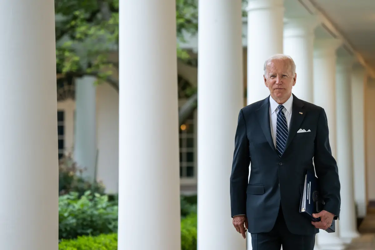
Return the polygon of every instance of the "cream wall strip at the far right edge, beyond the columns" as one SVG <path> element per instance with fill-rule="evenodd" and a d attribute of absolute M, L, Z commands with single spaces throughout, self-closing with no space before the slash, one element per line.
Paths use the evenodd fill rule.
<path fill-rule="evenodd" d="M 365 84 L 365 143 L 368 200 L 375 201 L 375 80 Z"/>

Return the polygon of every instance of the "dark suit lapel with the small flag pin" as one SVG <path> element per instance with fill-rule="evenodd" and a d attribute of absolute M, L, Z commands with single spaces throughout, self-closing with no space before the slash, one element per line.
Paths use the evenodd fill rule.
<path fill-rule="evenodd" d="M 292 117 L 288 131 L 287 143 L 285 144 L 284 148 L 284 153 L 290 145 L 291 141 L 293 140 L 294 136 L 297 134 L 297 131 L 299 130 L 301 123 L 305 118 L 306 110 L 303 108 L 303 106 L 303 102 L 293 95 Z"/>

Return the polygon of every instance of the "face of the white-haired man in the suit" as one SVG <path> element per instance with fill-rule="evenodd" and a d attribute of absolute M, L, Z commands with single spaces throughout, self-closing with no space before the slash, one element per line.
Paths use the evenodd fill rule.
<path fill-rule="evenodd" d="M 267 66 L 267 74 L 264 75 L 264 83 L 270 90 L 273 99 L 289 99 L 292 87 L 296 84 L 297 74 L 292 72 L 291 66 L 286 60 L 273 60 Z"/>

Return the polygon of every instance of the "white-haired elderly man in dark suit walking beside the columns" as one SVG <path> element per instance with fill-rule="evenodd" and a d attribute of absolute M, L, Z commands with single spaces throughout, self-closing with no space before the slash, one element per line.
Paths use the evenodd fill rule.
<path fill-rule="evenodd" d="M 340 212 L 340 182 L 323 108 L 292 94 L 296 65 L 287 55 L 264 63 L 270 96 L 239 112 L 230 177 L 237 232 L 251 233 L 254 250 L 312 250 L 315 234 Z M 324 91 L 324 90 L 322 90 Z M 303 133 L 297 133 L 302 129 Z M 249 177 L 249 165 L 251 172 Z M 325 205 L 311 222 L 299 213 L 306 170 L 315 171 Z"/>

